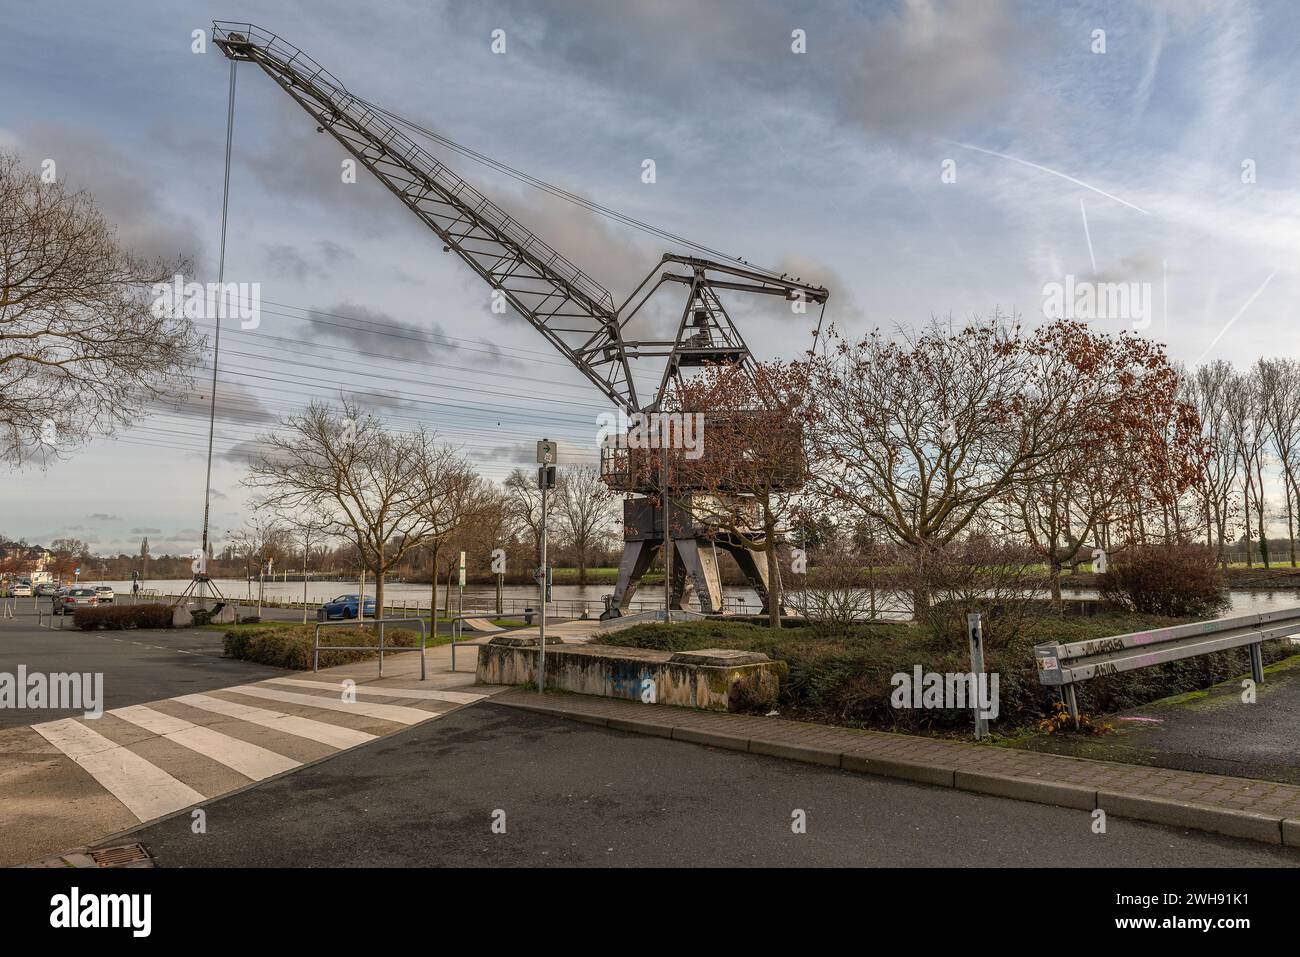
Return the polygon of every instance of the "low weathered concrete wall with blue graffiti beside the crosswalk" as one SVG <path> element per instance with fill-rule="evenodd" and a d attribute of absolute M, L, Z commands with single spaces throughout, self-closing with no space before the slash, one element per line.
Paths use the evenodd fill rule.
<path fill-rule="evenodd" d="M 478 649 L 478 681 L 537 684 L 537 644 L 495 638 Z M 607 645 L 546 646 L 546 687 L 710 711 L 771 710 L 784 663 L 764 654 L 710 649 L 649 651 Z"/>

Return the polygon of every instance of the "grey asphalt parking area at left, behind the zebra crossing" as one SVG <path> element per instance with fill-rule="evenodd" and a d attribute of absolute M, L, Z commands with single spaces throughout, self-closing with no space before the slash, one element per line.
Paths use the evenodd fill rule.
<path fill-rule="evenodd" d="M 281 668 L 222 658 L 221 633 L 216 631 L 82 632 L 72 627 L 60 631 L 57 624 L 52 629 L 38 627 L 30 614 L 0 620 L 0 672 L 17 674 L 20 664 L 25 664 L 29 674 L 103 672 L 105 709 L 287 674 Z M 5 707 L 0 709 L 0 728 L 82 713 Z"/>

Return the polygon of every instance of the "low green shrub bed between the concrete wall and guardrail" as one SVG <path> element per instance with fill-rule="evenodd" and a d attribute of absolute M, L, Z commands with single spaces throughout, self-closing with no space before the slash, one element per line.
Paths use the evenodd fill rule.
<path fill-rule="evenodd" d="M 1056 693 L 1039 684 L 1034 645 L 1044 641 L 1083 641 L 1176 624 L 1176 619 L 1148 615 L 1031 619 L 1023 632 L 1005 642 L 989 638 L 985 670 L 998 675 L 1000 714 L 994 729 L 1018 735 L 1052 714 Z M 641 624 L 599 638 L 602 645 L 688 651 L 732 648 L 762 651 L 785 662 L 779 707 L 784 716 L 849 727 L 911 733 L 961 735 L 971 728 L 968 710 L 894 709 L 889 703 L 892 677 L 926 672 L 966 672 L 966 642 L 941 641 L 930 631 L 905 623 L 853 627 L 783 628 L 774 631 L 737 622 Z M 1269 662 L 1292 654 L 1284 642 L 1265 645 Z M 1123 675 L 1106 675 L 1080 684 L 1079 705 L 1093 715 L 1112 714 L 1173 694 L 1199 692 L 1248 670 L 1245 649 L 1188 658 Z"/>

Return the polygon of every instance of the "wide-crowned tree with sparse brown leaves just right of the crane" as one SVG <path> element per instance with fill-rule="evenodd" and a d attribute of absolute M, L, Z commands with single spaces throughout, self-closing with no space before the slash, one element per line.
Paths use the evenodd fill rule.
<path fill-rule="evenodd" d="M 1139 346 L 1128 337 L 1117 348 Z M 1132 378 L 1108 355 L 1083 324 L 1026 334 L 1000 315 L 957 329 L 933 322 L 915 338 L 848 342 L 832 330 L 812 358 L 814 490 L 919 555 L 942 554 L 1031 477 L 1060 480 L 1066 452 L 1102 433 L 1101 417 Z M 1048 521 L 1057 532 L 1062 516 Z M 1082 533 L 1072 538 L 1066 560 Z M 914 594 L 918 616 L 927 601 Z"/>

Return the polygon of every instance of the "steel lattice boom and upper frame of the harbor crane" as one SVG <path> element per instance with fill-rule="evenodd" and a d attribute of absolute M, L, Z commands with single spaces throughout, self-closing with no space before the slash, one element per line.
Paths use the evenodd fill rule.
<path fill-rule="evenodd" d="M 439 239 L 545 335 L 606 397 L 627 412 L 653 410 L 681 369 L 748 363 L 749 350 L 718 290 L 775 294 L 824 303 L 826 289 L 692 256 L 666 254 L 659 267 L 616 309 L 601 283 L 485 198 L 386 118 L 386 111 L 354 96 L 324 66 L 252 23 L 214 21 L 213 43 L 231 60 L 260 66 L 347 152 L 419 216 Z M 656 267 L 656 269 L 659 268 Z M 719 278 L 719 276 L 727 278 Z M 623 330 L 664 282 L 690 287 L 675 339 L 628 342 Z M 651 402 L 638 400 L 629 359 L 667 359 Z"/>

